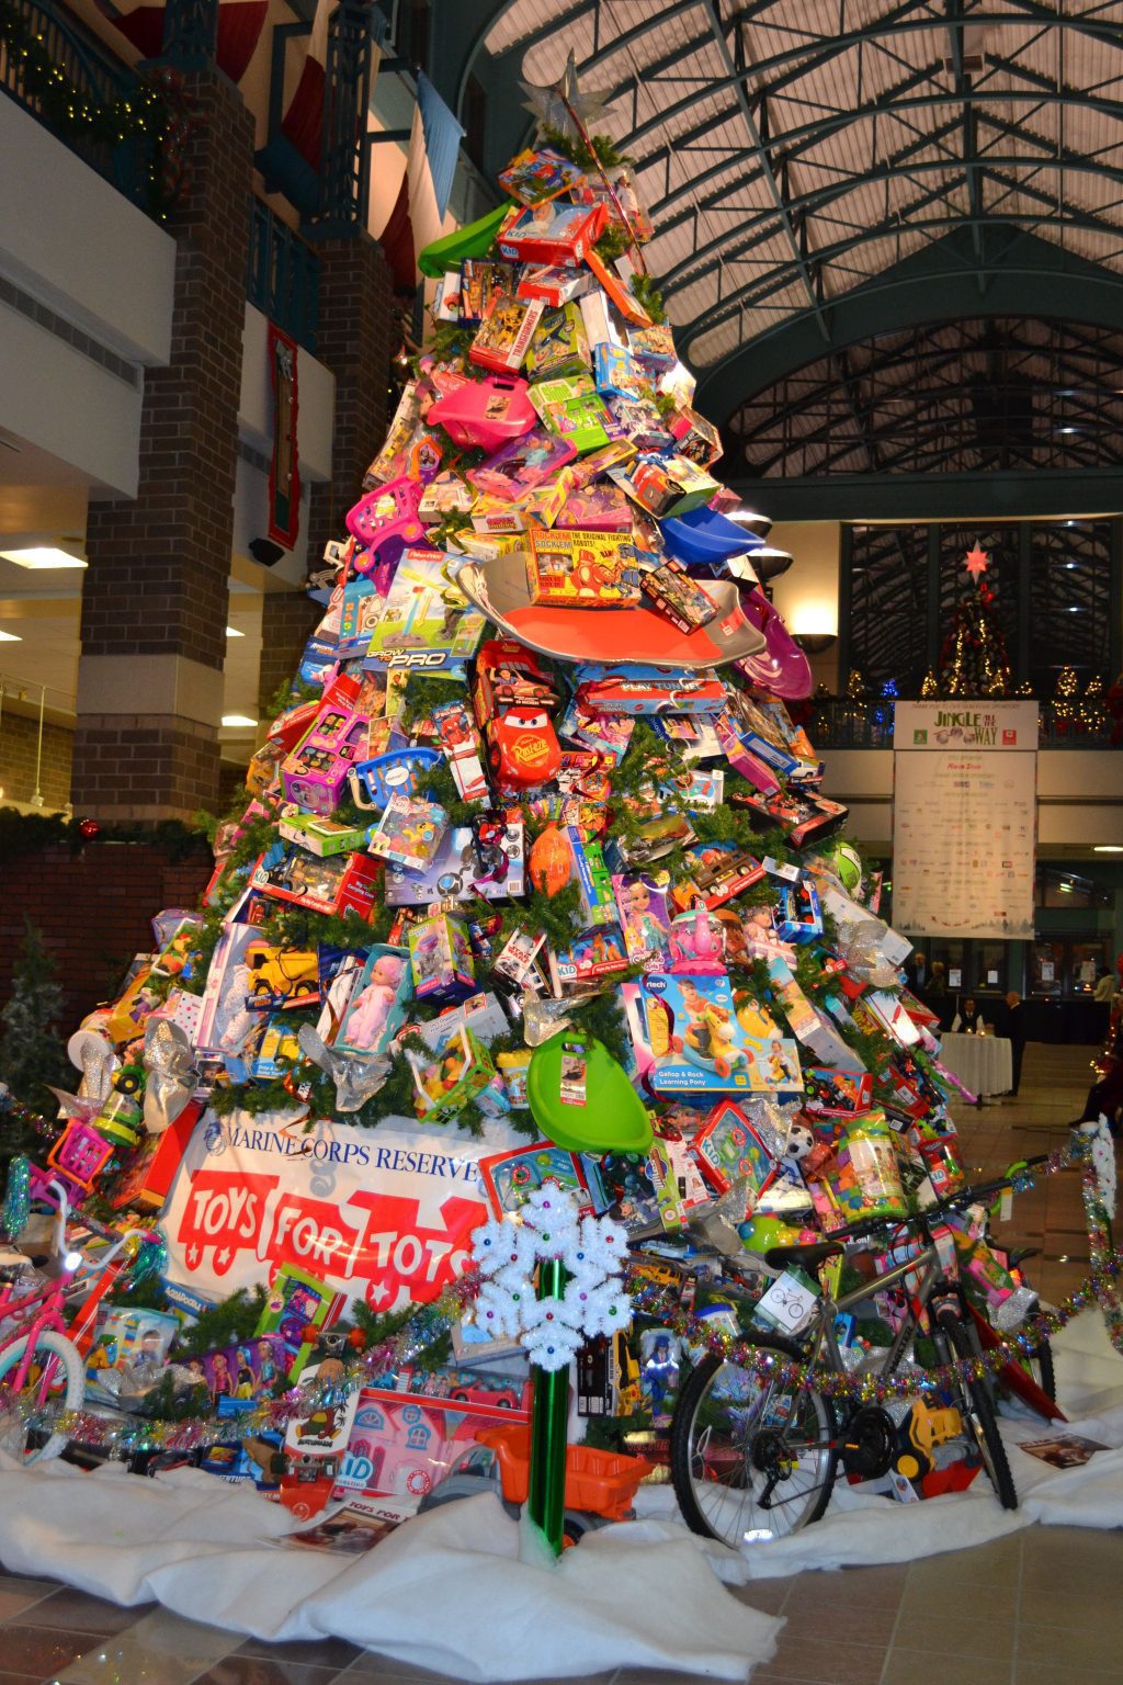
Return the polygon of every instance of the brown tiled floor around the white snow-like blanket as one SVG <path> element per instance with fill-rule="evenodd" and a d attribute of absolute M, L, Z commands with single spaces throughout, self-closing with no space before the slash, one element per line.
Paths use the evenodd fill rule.
<path fill-rule="evenodd" d="M 973 1180 L 1064 1144 L 1064 1124 L 1079 1115 L 1091 1080 L 1089 1055 L 1029 1046 L 1017 1100 L 958 1115 Z M 1020 1196 L 1005 1238 L 1041 1247 L 1027 1269 L 1044 1296 L 1069 1292 L 1088 1269 L 1076 1173 Z M 763 1581 L 734 1596 L 786 1618 L 778 1653 L 753 1685 L 1123 1685 L 1121 1584 L 1123 1532 L 1034 1527 L 973 1550 Z M 0 1685 L 431 1678 L 338 1640 L 239 1643 L 152 1604 L 118 1609 L 51 1581 L 0 1575 Z M 682 1675 L 625 1668 L 591 1685 L 672 1680 Z"/>

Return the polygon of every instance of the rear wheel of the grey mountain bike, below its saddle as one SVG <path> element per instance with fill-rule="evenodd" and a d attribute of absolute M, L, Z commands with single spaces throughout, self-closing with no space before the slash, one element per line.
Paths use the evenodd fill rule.
<path fill-rule="evenodd" d="M 801 1361 L 788 1340 L 759 1351 Z M 739 1550 L 818 1522 L 830 1503 L 838 1449 L 830 1402 L 756 1370 L 707 1356 L 679 1395 L 670 1476 L 692 1532 Z"/>

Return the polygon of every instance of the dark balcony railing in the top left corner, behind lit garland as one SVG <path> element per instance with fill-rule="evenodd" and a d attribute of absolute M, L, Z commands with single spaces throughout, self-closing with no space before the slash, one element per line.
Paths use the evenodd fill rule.
<path fill-rule="evenodd" d="M 141 81 L 135 71 L 114 59 L 72 12 L 51 0 L 3 0 L 3 22 L 0 89 L 118 192 L 155 214 L 152 138 L 140 133 L 104 138 L 111 125 L 98 121 L 114 101 L 136 98 Z M 29 51 L 20 51 L 22 45 Z M 45 66 L 57 76 L 44 76 Z M 82 121 L 82 111 L 94 120 Z"/>

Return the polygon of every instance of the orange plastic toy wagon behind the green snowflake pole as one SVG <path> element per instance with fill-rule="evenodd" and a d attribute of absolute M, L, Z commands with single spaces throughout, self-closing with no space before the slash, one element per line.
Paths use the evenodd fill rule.
<path fill-rule="evenodd" d="M 643 1458 L 613 1456 L 589 1446 L 566 1447 L 566 1522 L 567 1545 L 576 1545 L 591 1527 L 631 1520 L 631 1500 L 653 1463 Z M 482 1427 L 476 1444 L 468 1446 L 453 1463 L 441 1484 L 421 1500 L 419 1513 L 456 1498 L 473 1498 L 493 1491 L 508 1515 L 517 1516 L 527 1501 L 530 1484 L 530 1429 L 520 1426 Z"/>

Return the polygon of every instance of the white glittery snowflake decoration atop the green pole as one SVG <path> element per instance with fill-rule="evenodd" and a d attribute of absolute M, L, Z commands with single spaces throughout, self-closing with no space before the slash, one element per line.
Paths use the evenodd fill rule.
<path fill-rule="evenodd" d="M 566 1190 L 546 1183 L 517 1215 L 483 1223 L 471 1257 L 485 1277 L 475 1306 L 482 1329 L 519 1340 L 532 1363 L 564 1368 L 594 1335 L 631 1323 L 631 1299 L 620 1286 L 628 1237 L 608 1217 L 579 1217 Z M 569 1274 L 561 1299 L 539 1299 L 534 1272 L 559 1260 Z"/>

